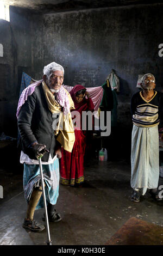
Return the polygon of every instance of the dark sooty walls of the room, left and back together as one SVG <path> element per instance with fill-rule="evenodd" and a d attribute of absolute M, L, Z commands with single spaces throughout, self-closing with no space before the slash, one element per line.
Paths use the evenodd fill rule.
<path fill-rule="evenodd" d="M 163 4 L 143 4 L 41 15 L 10 7 L 10 22 L 0 20 L 0 132 L 16 136 L 22 71 L 40 80 L 53 61 L 64 66 L 69 85 L 99 86 L 114 69 L 121 83 L 118 122 L 129 127 L 138 74 L 152 72 L 157 88 L 163 86 L 162 10 Z"/>

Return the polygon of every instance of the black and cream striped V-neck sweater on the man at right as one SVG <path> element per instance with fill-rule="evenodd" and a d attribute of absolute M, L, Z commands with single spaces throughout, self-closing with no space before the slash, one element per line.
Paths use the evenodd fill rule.
<path fill-rule="evenodd" d="M 162 93 L 154 90 L 153 97 L 148 101 L 143 98 L 142 91 L 135 93 L 131 99 L 133 124 L 141 127 L 153 127 L 159 125 L 162 107 Z"/>

